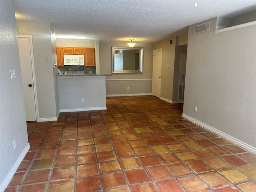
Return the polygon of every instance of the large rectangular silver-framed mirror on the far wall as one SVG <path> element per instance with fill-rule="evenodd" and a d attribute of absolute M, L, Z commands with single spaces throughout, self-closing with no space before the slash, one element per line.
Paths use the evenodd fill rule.
<path fill-rule="evenodd" d="M 143 48 L 112 47 L 112 73 L 142 73 Z"/>

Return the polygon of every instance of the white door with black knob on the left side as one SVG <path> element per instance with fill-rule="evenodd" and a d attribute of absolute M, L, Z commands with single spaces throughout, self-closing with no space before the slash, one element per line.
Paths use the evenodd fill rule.
<path fill-rule="evenodd" d="M 20 69 L 26 112 L 26 121 L 36 121 L 36 102 L 32 68 L 32 47 L 29 37 L 18 37 Z"/>

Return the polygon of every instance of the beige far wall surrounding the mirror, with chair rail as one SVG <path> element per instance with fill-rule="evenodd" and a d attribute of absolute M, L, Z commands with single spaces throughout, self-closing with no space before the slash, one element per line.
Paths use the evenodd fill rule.
<path fill-rule="evenodd" d="M 112 46 L 128 47 L 126 42 L 100 41 L 100 74 L 112 74 Z M 153 44 L 137 42 L 135 46 L 144 48 L 143 73 L 106 76 L 107 96 L 152 94 Z"/>

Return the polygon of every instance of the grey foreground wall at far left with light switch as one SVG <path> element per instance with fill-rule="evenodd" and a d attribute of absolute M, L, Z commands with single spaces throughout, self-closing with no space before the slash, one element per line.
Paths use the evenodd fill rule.
<path fill-rule="evenodd" d="M 8 185 L 29 144 L 13 1 L 0 2 L 0 191 Z M 16 78 L 11 79 L 10 70 Z M 13 141 L 16 140 L 16 149 Z"/>

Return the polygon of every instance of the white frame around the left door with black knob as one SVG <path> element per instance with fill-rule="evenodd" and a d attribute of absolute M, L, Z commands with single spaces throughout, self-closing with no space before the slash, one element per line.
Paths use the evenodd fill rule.
<path fill-rule="evenodd" d="M 35 63 L 34 63 L 34 52 L 33 52 L 33 41 L 32 35 L 17 35 L 19 38 L 29 38 L 29 46 L 30 46 L 30 59 L 32 65 L 32 78 L 33 78 L 33 88 L 34 88 L 34 98 L 35 98 L 35 107 L 36 107 L 36 122 L 39 120 L 39 113 L 38 113 L 38 100 L 37 100 L 37 91 L 36 91 L 36 72 L 35 72 Z"/>

